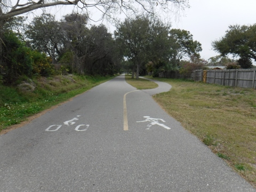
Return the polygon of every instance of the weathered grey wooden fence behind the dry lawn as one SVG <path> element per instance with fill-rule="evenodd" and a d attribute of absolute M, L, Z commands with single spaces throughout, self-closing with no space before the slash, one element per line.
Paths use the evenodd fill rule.
<path fill-rule="evenodd" d="M 163 71 L 159 73 L 159 77 L 185 78 L 179 71 Z M 200 69 L 193 71 L 187 78 L 204 83 L 256 89 L 256 69 Z"/>

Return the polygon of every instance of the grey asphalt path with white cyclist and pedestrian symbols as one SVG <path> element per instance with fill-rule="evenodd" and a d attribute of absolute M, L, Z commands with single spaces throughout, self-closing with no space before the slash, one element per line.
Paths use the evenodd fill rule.
<path fill-rule="evenodd" d="M 118 76 L 1 135 L 0 191 L 255 191 L 135 90 Z"/>

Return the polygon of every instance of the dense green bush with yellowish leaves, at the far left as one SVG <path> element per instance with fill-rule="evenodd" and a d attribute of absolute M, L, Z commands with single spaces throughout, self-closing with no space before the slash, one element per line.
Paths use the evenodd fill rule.
<path fill-rule="evenodd" d="M 4 84 L 14 84 L 20 76 L 53 74 L 51 59 L 46 54 L 26 47 L 12 31 L 5 31 L 3 37 L 0 76 Z"/>

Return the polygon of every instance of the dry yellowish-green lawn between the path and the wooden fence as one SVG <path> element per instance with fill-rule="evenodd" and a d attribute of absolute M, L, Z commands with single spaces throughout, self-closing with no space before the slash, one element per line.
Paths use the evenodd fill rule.
<path fill-rule="evenodd" d="M 256 187 L 256 90 L 154 79 L 172 85 L 155 101 Z"/>

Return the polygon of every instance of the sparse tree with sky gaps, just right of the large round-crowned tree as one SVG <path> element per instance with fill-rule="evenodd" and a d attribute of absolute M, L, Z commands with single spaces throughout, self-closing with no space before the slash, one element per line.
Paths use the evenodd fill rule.
<path fill-rule="evenodd" d="M 200 58 L 199 52 L 202 51 L 201 43 L 193 40 L 193 35 L 189 31 L 181 29 L 171 29 L 169 43 L 170 50 L 170 67 L 175 69 L 179 66 L 179 62 L 184 57 Z"/>

